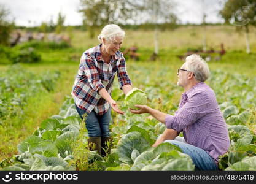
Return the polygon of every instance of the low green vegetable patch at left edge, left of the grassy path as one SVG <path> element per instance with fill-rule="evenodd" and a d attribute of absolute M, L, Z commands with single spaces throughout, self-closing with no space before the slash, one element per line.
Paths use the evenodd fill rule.
<path fill-rule="evenodd" d="M 0 74 L 0 125 L 4 120 L 23 115 L 28 98 L 42 91 L 53 91 L 60 72 L 34 74 L 19 64 Z"/>

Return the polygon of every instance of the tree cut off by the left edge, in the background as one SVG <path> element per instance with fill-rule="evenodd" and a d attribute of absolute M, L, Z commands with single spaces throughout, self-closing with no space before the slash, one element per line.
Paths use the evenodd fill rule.
<path fill-rule="evenodd" d="M 0 44 L 9 45 L 10 32 L 14 23 L 9 23 L 7 21 L 7 16 L 9 15 L 9 10 L 4 6 L 0 5 Z"/>

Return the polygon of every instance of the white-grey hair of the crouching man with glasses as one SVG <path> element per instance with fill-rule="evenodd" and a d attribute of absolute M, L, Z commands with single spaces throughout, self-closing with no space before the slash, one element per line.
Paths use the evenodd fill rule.
<path fill-rule="evenodd" d="M 206 81 L 210 76 L 208 64 L 199 55 L 193 54 L 187 56 L 185 66 L 187 67 L 188 71 L 195 74 L 196 80 L 200 82 Z"/>

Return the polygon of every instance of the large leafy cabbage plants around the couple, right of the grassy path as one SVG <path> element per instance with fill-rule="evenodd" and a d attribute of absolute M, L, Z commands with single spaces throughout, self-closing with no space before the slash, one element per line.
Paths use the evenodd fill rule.
<path fill-rule="evenodd" d="M 149 76 L 149 70 L 134 72 L 133 78 Z M 168 71 L 162 68 L 158 74 L 165 72 Z M 174 113 L 177 110 L 177 99 L 174 102 L 174 98 L 182 93 L 182 89 L 176 83 L 155 78 L 146 77 L 138 88 L 147 93 L 149 106 Z M 215 91 L 231 140 L 228 153 L 220 157 L 220 169 L 255 170 L 256 79 L 216 70 L 212 71 L 207 83 Z M 151 147 L 165 130 L 165 125 L 149 114 L 131 114 L 117 83 L 114 83 L 112 97 L 126 113 L 112 114 L 111 154 L 101 157 L 96 151 L 88 151 L 85 125 L 77 115 L 72 98 L 67 96 L 60 113 L 42 121 L 31 136 L 17 145 L 19 155 L 4 159 L 0 166 L 4 170 L 195 169 L 190 156 L 182 153 L 179 147 L 168 143 Z"/>

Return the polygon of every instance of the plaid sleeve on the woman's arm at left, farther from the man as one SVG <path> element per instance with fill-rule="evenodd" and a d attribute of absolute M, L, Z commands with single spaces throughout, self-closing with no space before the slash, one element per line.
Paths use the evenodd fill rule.
<path fill-rule="evenodd" d="M 104 88 L 104 85 L 101 83 L 101 79 L 99 79 L 99 74 L 93 58 L 89 55 L 83 54 L 80 67 L 82 67 L 91 88 L 99 93 L 99 90 Z"/>

